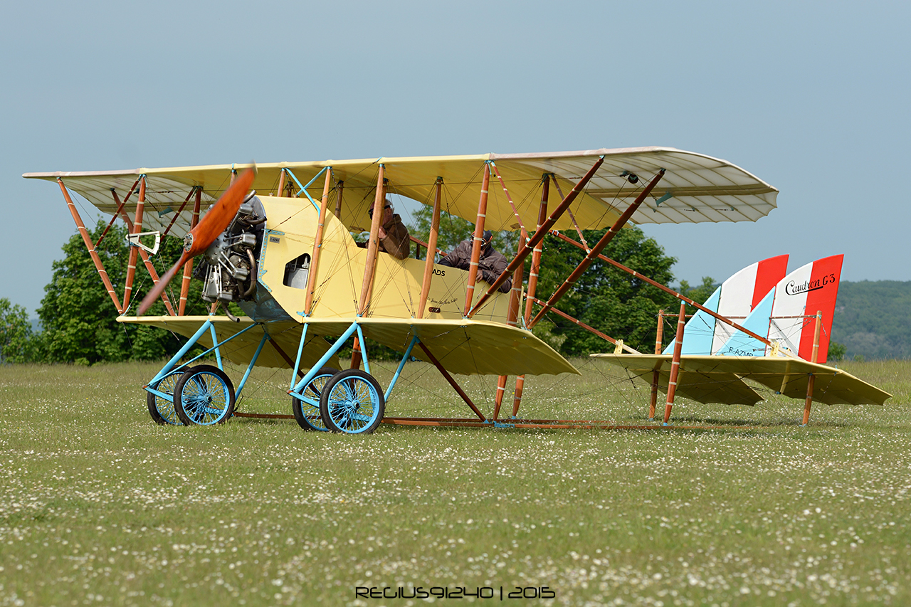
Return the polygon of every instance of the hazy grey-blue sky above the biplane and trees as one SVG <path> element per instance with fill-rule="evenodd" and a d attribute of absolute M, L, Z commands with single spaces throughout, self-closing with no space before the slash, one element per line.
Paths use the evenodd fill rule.
<path fill-rule="evenodd" d="M 647 226 L 678 280 L 785 252 L 792 269 L 844 252 L 844 280 L 911 280 L 909 16 L 831 1 L 5 5 L 0 297 L 32 313 L 76 231 L 56 185 L 24 172 L 651 145 L 781 190 L 755 223 Z"/>

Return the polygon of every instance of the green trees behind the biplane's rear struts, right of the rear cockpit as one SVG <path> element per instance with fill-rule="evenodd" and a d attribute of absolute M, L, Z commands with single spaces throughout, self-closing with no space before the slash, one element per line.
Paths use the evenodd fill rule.
<path fill-rule="evenodd" d="M 586 241 L 594 243 L 605 232 L 584 233 Z M 619 231 L 603 254 L 658 283 L 668 284 L 673 280 L 670 267 L 677 260 L 667 256 L 660 245 L 654 239 L 646 238 L 638 227 Z M 548 235 L 541 258 L 538 299 L 546 301 L 584 257 L 584 251 Z M 529 265 L 526 264 L 527 269 Z M 556 307 L 641 352 L 653 352 L 658 311 L 674 309 L 676 301 L 670 294 L 639 278 L 596 260 Z M 552 313 L 548 314 L 548 322 L 542 321 L 535 327 L 535 334 L 557 346 L 564 355 L 588 355 L 613 347 L 599 336 Z"/>

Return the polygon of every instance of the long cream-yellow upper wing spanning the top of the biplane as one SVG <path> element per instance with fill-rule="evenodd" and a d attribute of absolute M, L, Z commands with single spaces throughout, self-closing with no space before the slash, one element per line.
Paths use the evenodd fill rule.
<path fill-rule="evenodd" d="M 522 222 L 531 227 L 537 220 L 541 197 L 541 180 L 545 173 L 553 176 L 556 186 L 550 188 L 549 201 L 555 207 L 561 196 L 588 171 L 599 157 L 604 164 L 589 182 L 585 192 L 570 207 L 579 227 L 595 230 L 612 225 L 626 210 L 645 183 L 660 169 L 667 173 L 632 216 L 634 223 L 694 223 L 701 221 L 756 221 L 775 208 L 775 190 L 751 173 L 727 162 L 694 152 L 673 148 L 590 149 L 575 152 L 539 154 L 481 154 L 476 156 L 435 156 L 414 158 L 381 158 L 322 160 L 318 162 L 276 162 L 257 164 L 253 189 L 261 194 L 276 194 L 282 169 L 292 176 L 291 182 L 302 204 L 309 204 L 299 186 L 305 186 L 325 167 L 332 167 L 334 182 L 343 182 L 343 205 L 340 219 L 346 226 L 369 225 L 367 209 L 373 201 L 377 171 L 382 163 L 388 191 L 415 201 L 434 201 L 435 181 L 443 179 L 443 209 L 475 221 L 481 173 L 485 162 L 492 161 L 503 177 L 509 197 L 516 205 Z M 201 209 L 205 211 L 230 184 L 230 171 L 249 165 L 211 165 L 169 169 L 136 169 L 90 172 L 26 173 L 23 177 L 41 180 L 63 180 L 94 204 L 99 211 L 112 214 L 117 203 L 111 189 L 122 201 L 140 175 L 146 175 L 146 212 L 143 225 L 163 231 L 176 214 L 170 232 L 183 236 L 189 231 L 193 208 L 190 189 L 201 189 Z M 639 177 L 630 183 L 630 173 Z M 496 185 L 495 185 L 496 184 Z M 518 221 L 507 194 L 491 175 L 486 226 L 492 230 L 516 230 Z M 322 193 L 322 177 L 314 181 L 311 195 Z M 333 197 L 335 193 L 333 192 Z M 187 201 L 189 197 L 189 201 Z M 132 194 L 125 209 L 132 215 L 138 193 Z M 183 211 L 180 211 L 183 206 Z M 334 209 L 334 204 L 332 205 Z M 572 229 L 572 219 L 565 215 L 556 230 Z"/>

